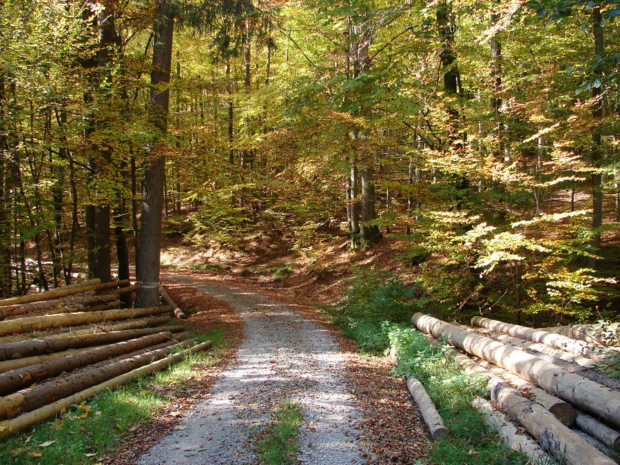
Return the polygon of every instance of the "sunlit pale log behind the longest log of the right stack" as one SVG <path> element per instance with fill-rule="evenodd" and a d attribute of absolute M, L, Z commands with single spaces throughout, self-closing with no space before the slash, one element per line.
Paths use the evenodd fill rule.
<path fill-rule="evenodd" d="M 483 327 L 499 333 L 510 334 L 515 336 L 515 338 L 527 339 L 533 342 L 541 342 L 542 344 L 547 344 L 554 349 L 560 349 L 562 351 L 575 353 L 576 355 L 582 355 L 583 357 L 591 358 L 596 362 L 603 362 L 611 355 L 609 351 L 601 350 L 599 347 L 592 347 L 592 345 L 587 342 L 567 338 L 561 334 L 519 326 L 519 324 L 504 323 L 497 320 L 491 320 L 490 318 L 483 318 L 482 316 L 475 316 L 472 318 L 471 324 L 472 326 Z"/>

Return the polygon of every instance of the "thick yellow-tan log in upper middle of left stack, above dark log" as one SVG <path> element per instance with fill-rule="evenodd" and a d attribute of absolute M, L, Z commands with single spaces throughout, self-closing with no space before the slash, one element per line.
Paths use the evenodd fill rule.
<path fill-rule="evenodd" d="M 169 313 L 172 307 L 152 307 L 149 309 L 115 309 L 103 311 L 81 311 L 78 313 L 59 313 L 50 316 L 28 316 L 15 320 L 0 321 L 0 335 L 24 333 L 25 331 L 58 328 L 73 324 L 99 323 L 107 320 L 128 320 L 138 316 Z"/>

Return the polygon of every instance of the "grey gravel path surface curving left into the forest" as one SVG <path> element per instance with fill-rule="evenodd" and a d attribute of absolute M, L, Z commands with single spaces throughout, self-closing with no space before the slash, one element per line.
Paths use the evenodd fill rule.
<path fill-rule="evenodd" d="M 229 303 L 243 320 L 237 363 L 211 395 L 190 409 L 139 464 L 253 464 L 257 433 L 282 400 L 303 411 L 296 459 L 304 464 L 361 464 L 362 431 L 342 371 L 344 354 L 329 331 L 285 304 L 223 282 L 170 274 Z"/>

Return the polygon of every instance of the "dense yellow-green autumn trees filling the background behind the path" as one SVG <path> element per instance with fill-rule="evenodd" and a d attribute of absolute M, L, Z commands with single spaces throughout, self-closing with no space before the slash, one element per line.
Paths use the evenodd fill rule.
<path fill-rule="evenodd" d="M 0 1 L 0 295 L 391 240 L 415 304 L 612 318 L 620 4 Z M 153 291 L 155 291 L 153 289 Z"/>

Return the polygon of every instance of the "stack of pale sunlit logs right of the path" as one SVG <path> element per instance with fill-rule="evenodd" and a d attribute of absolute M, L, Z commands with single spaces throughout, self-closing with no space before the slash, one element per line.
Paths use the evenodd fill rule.
<path fill-rule="evenodd" d="M 583 340 L 488 318 L 473 318 L 474 327 L 463 327 L 415 313 L 411 322 L 428 335 L 431 343 L 437 343 L 435 338 L 446 338 L 453 349 L 445 353 L 466 373 L 488 377 L 489 397 L 495 408 L 505 411 L 560 462 L 616 463 L 620 448 L 618 386 L 582 376 L 581 371 L 586 369 L 575 361 L 587 359 L 592 363 L 586 365 L 593 366 L 595 360 L 608 357 L 613 348 L 602 349 Z M 530 344 L 537 344 L 537 349 Z M 568 356 L 555 353 L 546 360 L 537 356 L 548 355 L 535 351 L 543 350 L 539 346 Z M 552 363 L 555 360 L 559 362 Z M 566 364 L 575 364 L 576 369 L 566 369 Z M 506 426 L 508 420 L 498 420 L 485 402 L 476 402 L 475 407 L 489 424 L 498 430 L 504 428 L 500 435 L 509 446 L 522 446 L 510 444 L 515 440 L 506 433 L 513 431 Z M 530 456 L 539 458 L 539 452 Z"/>

